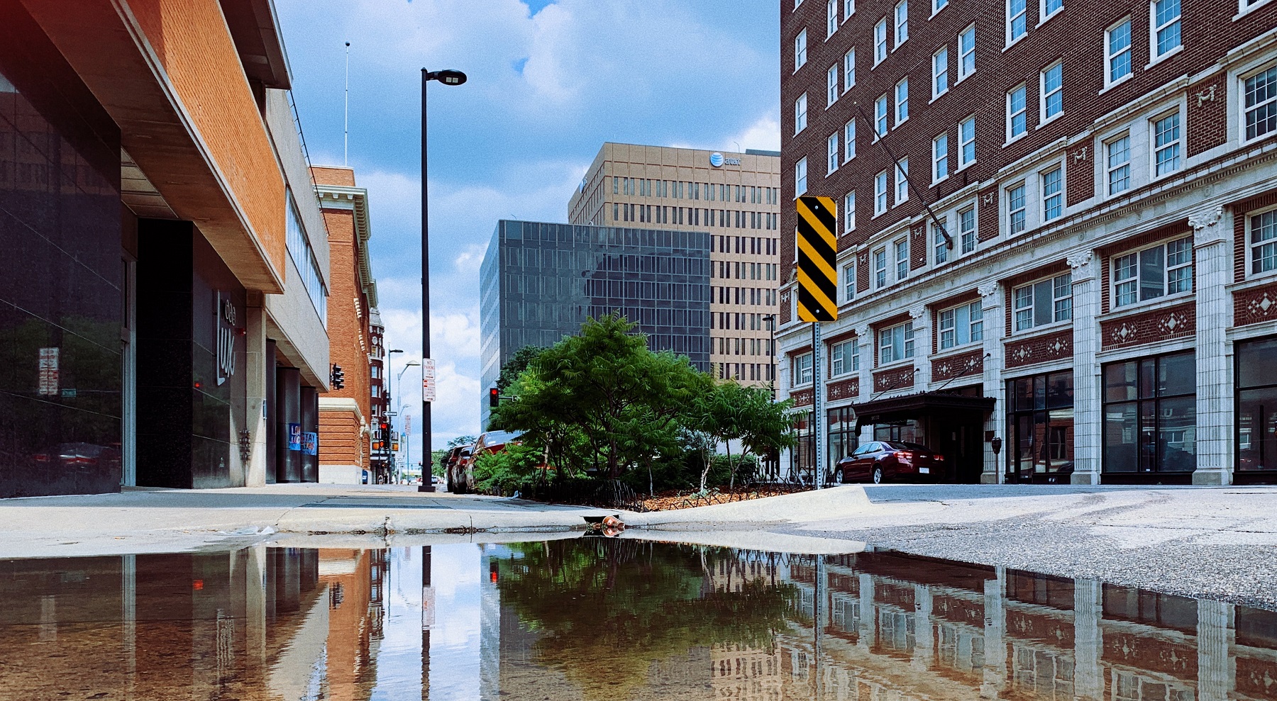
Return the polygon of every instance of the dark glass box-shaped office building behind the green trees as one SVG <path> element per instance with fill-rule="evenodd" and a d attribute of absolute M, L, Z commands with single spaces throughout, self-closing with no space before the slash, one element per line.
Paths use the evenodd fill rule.
<path fill-rule="evenodd" d="M 653 350 L 710 369 L 710 235 L 502 220 L 480 268 L 481 425 L 501 366 L 619 312 Z"/>

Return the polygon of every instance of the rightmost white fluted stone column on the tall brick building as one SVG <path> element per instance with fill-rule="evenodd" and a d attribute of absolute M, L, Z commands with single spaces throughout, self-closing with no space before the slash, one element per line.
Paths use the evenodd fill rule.
<path fill-rule="evenodd" d="M 1231 217 L 1212 207 L 1189 217 L 1197 275 L 1197 471 L 1193 484 L 1232 483 L 1232 355 L 1225 329 L 1232 327 Z"/>

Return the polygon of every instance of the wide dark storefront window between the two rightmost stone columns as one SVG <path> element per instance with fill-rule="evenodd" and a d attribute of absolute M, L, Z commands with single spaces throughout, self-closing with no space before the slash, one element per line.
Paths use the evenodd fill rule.
<path fill-rule="evenodd" d="M 1105 365 L 1105 474 L 1197 469 L 1197 355 Z"/>

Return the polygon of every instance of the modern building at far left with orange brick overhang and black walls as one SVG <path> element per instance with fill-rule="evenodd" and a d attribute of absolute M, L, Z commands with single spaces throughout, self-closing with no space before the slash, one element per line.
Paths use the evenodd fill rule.
<path fill-rule="evenodd" d="M 314 479 L 290 86 L 269 0 L 0 0 L 0 497 Z"/>

